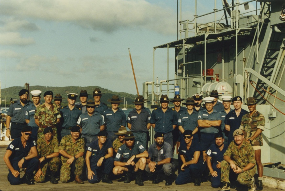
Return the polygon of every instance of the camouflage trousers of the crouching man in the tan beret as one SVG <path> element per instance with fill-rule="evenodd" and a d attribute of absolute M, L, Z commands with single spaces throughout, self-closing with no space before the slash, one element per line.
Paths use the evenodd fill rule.
<path fill-rule="evenodd" d="M 234 161 L 234 164 L 237 165 L 237 163 L 235 161 Z M 221 162 L 221 182 L 230 183 L 230 180 L 229 180 L 230 170 L 232 170 L 230 168 L 230 164 L 228 162 L 226 162 L 225 160 L 223 160 Z M 250 186 L 252 183 L 251 181 L 252 181 L 252 178 L 253 178 L 255 172 L 256 172 L 256 167 L 254 166 L 250 170 L 246 170 L 243 173 L 239 173 L 238 179 L 237 179 L 238 182 L 242 185 Z"/>

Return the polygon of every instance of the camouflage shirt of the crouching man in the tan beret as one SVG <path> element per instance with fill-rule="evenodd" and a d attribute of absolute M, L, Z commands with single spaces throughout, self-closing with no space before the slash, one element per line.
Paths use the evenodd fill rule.
<path fill-rule="evenodd" d="M 239 149 L 234 141 L 230 142 L 230 145 L 224 153 L 224 156 L 229 156 L 241 168 L 246 167 L 248 163 L 256 163 L 254 157 L 254 149 L 245 140 L 243 140 L 242 146 Z"/>

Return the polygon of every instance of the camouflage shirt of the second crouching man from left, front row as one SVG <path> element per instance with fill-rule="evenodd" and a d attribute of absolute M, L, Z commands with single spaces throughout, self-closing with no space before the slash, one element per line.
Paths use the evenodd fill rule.
<path fill-rule="evenodd" d="M 39 157 L 47 156 L 49 154 L 59 152 L 59 142 L 56 137 L 52 137 L 51 141 L 47 144 L 45 137 L 39 138 L 37 140 L 37 149 Z"/>

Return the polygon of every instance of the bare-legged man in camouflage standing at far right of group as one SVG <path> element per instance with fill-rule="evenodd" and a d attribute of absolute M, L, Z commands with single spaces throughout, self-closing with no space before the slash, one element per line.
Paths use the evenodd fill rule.
<path fill-rule="evenodd" d="M 247 107 L 249 113 L 242 116 L 241 126 L 239 127 L 245 133 L 245 139 L 254 149 L 255 161 L 257 165 L 258 182 L 256 190 L 262 190 L 263 166 L 261 162 L 262 131 L 264 131 L 265 118 L 256 110 L 256 99 L 247 98 Z"/>

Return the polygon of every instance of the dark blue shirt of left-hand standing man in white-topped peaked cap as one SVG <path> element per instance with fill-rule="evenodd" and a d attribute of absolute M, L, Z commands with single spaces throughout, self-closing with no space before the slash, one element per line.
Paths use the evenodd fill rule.
<path fill-rule="evenodd" d="M 79 107 L 80 108 L 80 107 Z M 82 114 L 82 111 L 76 106 L 72 110 L 69 109 L 68 105 L 60 109 L 62 113 L 62 127 L 73 127 L 76 125 L 79 116 Z"/>

